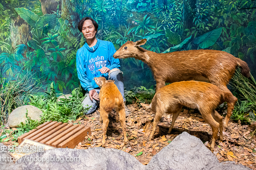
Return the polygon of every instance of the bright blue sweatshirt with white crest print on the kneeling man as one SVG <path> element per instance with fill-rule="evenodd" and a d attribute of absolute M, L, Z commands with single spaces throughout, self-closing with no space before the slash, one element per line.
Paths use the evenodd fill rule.
<path fill-rule="evenodd" d="M 84 90 L 99 88 L 94 77 L 105 77 L 108 80 L 108 73 L 102 74 L 98 69 L 108 67 L 120 69 L 119 59 L 115 59 L 116 52 L 112 42 L 97 39 L 93 47 L 85 43 L 77 51 L 77 75 Z"/>

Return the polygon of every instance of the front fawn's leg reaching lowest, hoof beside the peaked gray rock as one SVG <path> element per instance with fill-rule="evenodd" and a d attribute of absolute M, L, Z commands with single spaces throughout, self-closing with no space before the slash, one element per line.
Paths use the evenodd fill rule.
<path fill-rule="evenodd" d="M 211 152 L 213 153 L 220 124 L 214 120 L 214 118 L 211 115 L 211 111 L 200 109 L 200 112 L 204 117 L 204 120 L 211 126 L 211 129 L 212 129 L 212 141 L 211 141 L 210 149 L 211 149 Z"/>

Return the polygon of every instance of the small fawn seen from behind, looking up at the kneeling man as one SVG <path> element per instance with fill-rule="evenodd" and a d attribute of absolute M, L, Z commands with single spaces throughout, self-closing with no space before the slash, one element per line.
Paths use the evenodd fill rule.
<path fill-rule="evenodd" d="M 102 147 L 106 143 L 106 130 L 109 124 L 109 112 L 115 108 L 116 122 L 118 122 L 118 115 L 120 116 L 120 123 L 124 133 L 124 144 L 127 144 L 126 125 L 125 125 L 125 109 L 123 97 L 114 84 L 114 80 L 106 80 L 105 77 L 94 77 L 94 81 L 101 88 L 99 93 L 100 98 L 100 122 L 103 121 L 102 131 Z"/>

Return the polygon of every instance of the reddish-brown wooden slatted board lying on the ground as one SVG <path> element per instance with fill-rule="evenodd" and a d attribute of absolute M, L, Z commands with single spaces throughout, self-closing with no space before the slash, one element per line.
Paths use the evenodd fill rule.
<path fill-rule="evenodd" d="M 56 148 L 74 148 L 87 135 L 91 135 L 90 126 L 50 121 L 19 136 L 18 142 L 20 144 L 24 139 L 31 139 Z"/>

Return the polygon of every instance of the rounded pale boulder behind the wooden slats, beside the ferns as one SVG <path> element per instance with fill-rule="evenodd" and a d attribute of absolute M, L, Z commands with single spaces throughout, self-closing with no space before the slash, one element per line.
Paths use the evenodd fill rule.
<path fill-rule="evenodd" d="M 18 127 L 18 125 L 23 122 L 26 124 L 26 113 L 28 110 L 28 117 L 32 120 L 41 120 L 40 115 L 43 113 L 41 110 L 39 110 L 35 106 L 31 105 L 25 105 L 25 106 L 20 106 L 12 111 L 12 113 L 8 116 L 8 126 L 13 128 L 13 127 Z"/>

